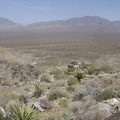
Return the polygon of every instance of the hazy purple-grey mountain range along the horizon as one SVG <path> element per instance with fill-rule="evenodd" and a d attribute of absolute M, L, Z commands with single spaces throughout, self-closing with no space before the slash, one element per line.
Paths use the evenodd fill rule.
<path fill-rule="evenodd" d="M 0 31 L 120 33 L 120 21 L 109 21 L 98 16 L 85 16 L 81 18 L 71 18 L 68 20 L 53 20 L 22 25 L 8 19 L 0 18 Z"/>

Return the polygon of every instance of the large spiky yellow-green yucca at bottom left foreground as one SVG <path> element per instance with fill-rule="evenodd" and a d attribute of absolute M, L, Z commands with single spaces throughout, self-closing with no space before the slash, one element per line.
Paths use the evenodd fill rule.
<path fill-rule="evenodd" d="M 11 105 L 10 106 L 10 120 L 38 120 L 38 111 L 31 106 L 25 105 Z"/>

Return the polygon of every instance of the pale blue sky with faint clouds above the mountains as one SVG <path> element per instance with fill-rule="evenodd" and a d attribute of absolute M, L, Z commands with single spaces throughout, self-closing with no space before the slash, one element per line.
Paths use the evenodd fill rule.
<path fill-rule="evenodd" d="M 84 16 L 118 21 L 120 0 L 0 0 L 0 17 L 22 24 Z"/>

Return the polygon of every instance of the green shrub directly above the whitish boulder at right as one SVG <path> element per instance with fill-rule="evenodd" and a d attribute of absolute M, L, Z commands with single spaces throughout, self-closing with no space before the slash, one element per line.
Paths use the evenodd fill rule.
<path fill-rule="evenodd" d="M 96 100 L 103 101 L 103 100 L 111 99 L 113 97 L 113 94 L 114 94 L 113 89 L 110 89 L 110 88 L 106 89 L 96 96 Z"/>

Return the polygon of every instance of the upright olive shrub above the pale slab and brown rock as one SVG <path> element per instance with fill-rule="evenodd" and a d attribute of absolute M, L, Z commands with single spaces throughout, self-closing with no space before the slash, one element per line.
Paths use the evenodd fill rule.
<path fill-rule="evenodd" d="M 33 97 L 39 98 L 41 96 L 41 94 L 43 93 L 44 89 L 43 86 L 41 84 L 35 84 L 35 92 Z"/>

